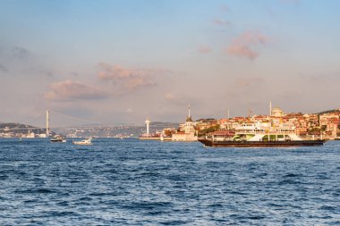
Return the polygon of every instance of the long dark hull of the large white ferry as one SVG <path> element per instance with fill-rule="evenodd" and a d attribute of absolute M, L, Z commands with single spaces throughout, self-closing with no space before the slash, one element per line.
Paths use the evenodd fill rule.
<path fill-rule="evenodd" d="M 266 146 L 323 146 L 326 140 L 291 140 L 291 141 L 212 141 L 199 139 L 205 146 L 216 147 L 266 147 Z"/>

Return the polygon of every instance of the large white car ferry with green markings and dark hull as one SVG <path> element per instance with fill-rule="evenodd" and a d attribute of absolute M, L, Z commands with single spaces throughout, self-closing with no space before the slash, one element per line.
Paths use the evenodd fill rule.
<path fill-rule="evenodd" d="M 244 123 L 234 132 L 216 131 L 198 139 L 205 146 L 323 146 L 325 139 L 303 140 L 292 126 L 273 127 L 268 122 Z"/>

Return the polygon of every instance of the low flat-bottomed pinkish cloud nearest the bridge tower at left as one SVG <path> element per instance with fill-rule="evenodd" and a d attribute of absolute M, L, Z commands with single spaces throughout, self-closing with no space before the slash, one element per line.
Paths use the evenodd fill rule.
<path fill-rule="evenodd" d="M 81 84 L 77 81 L 64 80 L 50 85 L 50 91 L 45 94 L 48 100 L 70 101 L 70 100 L 90 100 L 103 99 L 107 93 L 98 88 Z"/>

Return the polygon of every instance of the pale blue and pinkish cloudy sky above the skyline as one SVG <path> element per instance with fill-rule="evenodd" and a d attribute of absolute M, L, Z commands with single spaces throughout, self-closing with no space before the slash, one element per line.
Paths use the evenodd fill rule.
<path fill-rule="evenodd" d="M 0 121 L 340 107 L 340 1 L 0 0 Z M 66 119 L 65 116 L 69 115 Z M 72 120 L 73 118 L 73 120 Z M 79 121 L 74 121 L 79 119 Z"/>

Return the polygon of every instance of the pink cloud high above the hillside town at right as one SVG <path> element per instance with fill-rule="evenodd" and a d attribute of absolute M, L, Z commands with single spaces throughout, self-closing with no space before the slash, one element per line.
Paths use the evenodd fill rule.
<path fill-rule="evenodd" d="M 266 43 L 268 43 L 268 37 L 262 35 L 259 31 L 246 31 L 235 38 L 225 52 L 232 56 L 254 60 L 259 56 L 259 53 L 254 50 L 254 47 Z"/>

